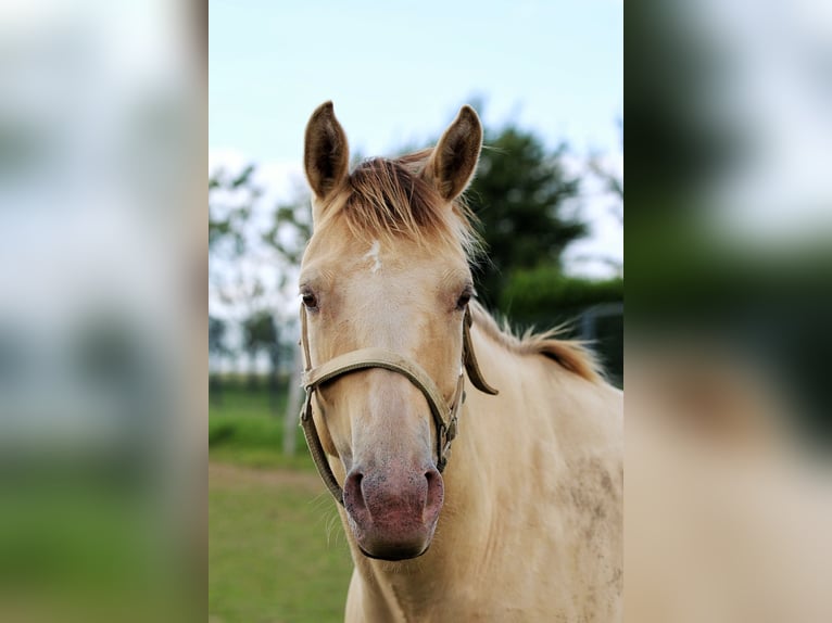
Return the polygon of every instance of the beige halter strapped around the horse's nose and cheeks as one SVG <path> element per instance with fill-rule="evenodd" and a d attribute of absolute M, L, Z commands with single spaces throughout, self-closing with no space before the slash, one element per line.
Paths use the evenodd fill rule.
<path fill-rule="evenodd" d="M 471 383 L 481 392 L 492 396 L 497 393 L 496 390 L 484 381 L 477 364 L 470 335 L 471 322 L 470 309 L 466 306 L 465 320 L 463 321 L 463 360 L 459 366 L 456 391 L 451 404 L 447 405 L 442 398 L 442 393 L 437 387 L 433 379 L 430 378 L 421 366 L 412 359 L 385 348 L 351 351 L 313 368 L 306 330 L 306 308 L 301 305 L 301 345 L 303 346 L 304 357 L 303 389 L 306 391 L 306 397 L 301 409 L 301 428 L 303 429 L 303 436 L 306 438 L 306 445 L 310 448 L 312 459 L 315 461 L 315 467 L 324 484 L 327 485 L 329 493 L 332 494 L 341 506 L 343 506 L 343 490 L 338 484 L 332 469 L 329 467 L 329 461 L 327 461 L 324 454 L 324 447 L 320 445 L 318 431 L 315 428 L 315 418 L 312 416 L 312 396 L 315 391 L 327 381 L 368 368 L 381 368 L 402 374 L 416 385 L 428 402 L 430 412 L 433 416 L 433 423 L 437 427 L 437 469 L 442 472 L 447 465 L 451 442 L 456 437 L 459 406 L 465 402 L 464 371 L 468 372 Z"/>

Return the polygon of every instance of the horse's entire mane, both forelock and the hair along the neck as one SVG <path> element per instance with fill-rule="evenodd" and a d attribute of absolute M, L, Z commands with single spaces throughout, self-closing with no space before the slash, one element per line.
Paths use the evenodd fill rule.
<path fill-rule="evenodd" d="M 404 237 L 425 245 L 437 240 L 455 249 L 462 245 L 466 257 L 475 260 L 482 251 L 476 215 L 462 196 L 452 201 L 449 209 L 447 202 L 423 176 L 432 151 L 360 163 L 325 207 L 327 218 L 341 215 L 354 236 L 368 241 Z M 499 327 L 479 304 L 471 307 L 477 326 L 510 352 L 543 355 L 590 382 L 601 382 L 601 367 L 581 342 L 558 340 L 558 329 L 543 333 L 529 330 L 518 338 L 507 323 Z"/>

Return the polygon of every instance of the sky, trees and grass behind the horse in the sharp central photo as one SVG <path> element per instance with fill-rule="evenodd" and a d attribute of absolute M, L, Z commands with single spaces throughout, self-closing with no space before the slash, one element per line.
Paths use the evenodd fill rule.
<path fill-rule="evenodd" d="M 431 145 L 471 104 L 479 300 L 564 325 L 622 383 L 622 20 L 615 0 L 210 3 L 210 595 L 214 621 L 339 621 L 352 569 L 299 436 L 312 112 L 353 162 Z"/>

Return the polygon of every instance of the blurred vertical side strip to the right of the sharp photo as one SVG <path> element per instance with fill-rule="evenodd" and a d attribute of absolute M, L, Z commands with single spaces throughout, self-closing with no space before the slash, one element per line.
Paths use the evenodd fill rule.
<path fill-rule="evenodd" d="M 626 31 L 626 618 L 832 620 L 830 3 Z"/>

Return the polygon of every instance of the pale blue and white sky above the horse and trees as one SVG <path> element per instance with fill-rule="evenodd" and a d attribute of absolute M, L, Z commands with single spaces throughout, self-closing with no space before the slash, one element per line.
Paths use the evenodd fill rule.
<path fill-rule="evenodd" d="M 620 0 L 211 0 L 210 166 L 257 163 L 287 198 L 318 104 L 333 101 L 369 156 L 439 136 L 478 99 L 487 125 L 516 122 L 567 141 L 576 166 L 603 154 L 622 174 L 622 30 Z M 609 199 L 589 194 L 593 234 L 576 256 L 622 258 Z"/>

